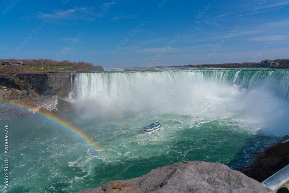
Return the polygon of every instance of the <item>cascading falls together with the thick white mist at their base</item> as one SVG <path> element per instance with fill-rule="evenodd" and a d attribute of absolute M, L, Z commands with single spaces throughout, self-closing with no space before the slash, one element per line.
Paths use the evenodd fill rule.
<path fill-rule="evenodd" d="M 247 98 L 260 109 L 263 97 L 289 99 L 288 80 L 289 71 L 267 69 L 77 73 L 73 95 L 82 108 L 97 115 L 104 110 L 181 113 L 181 108 L 186 114 L 191 104 L 205 99 L 244 102 Z"/>

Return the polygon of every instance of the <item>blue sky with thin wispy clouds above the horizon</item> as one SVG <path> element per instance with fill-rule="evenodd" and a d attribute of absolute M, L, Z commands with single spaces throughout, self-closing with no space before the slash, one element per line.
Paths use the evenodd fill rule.
<path fill-rule="evenodd" d="M 2 0 L 0 8 L 0 58 L 103 67 L 289 58 L 289 0 Z"/>

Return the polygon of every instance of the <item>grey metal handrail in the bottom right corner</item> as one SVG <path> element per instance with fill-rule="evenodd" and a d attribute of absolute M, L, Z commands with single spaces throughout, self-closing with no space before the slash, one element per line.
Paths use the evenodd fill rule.
<path fill-rule="evenodd" d="M 289 165 L 267 178 L 261 184 L 273 191 L 279 190 L 286 182 L 289 181 Z"/>

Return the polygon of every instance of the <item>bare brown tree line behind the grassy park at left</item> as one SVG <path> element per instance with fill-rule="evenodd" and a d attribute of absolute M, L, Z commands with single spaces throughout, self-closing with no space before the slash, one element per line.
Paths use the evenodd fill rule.
<path fill-rule="evenodd" d="M 18 62 L 19 59 L 9 58 L 9 59 L 0 59 L 0 62 L 11 61 Z M 51 60 L 51 59 L 22 59 L 21 62 L 25 63 L 26 66 L 72 66 L 78 72 L 84 71 L 102 71 L 103 68 L 100 65 L 93 65 L 92 63 L 85 63 L 84 61 L 71 62 L 70 60 Z"/>

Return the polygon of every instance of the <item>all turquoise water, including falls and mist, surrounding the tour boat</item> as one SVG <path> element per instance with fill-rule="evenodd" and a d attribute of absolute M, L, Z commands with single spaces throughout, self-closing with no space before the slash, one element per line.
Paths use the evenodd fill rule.
<path fill-rule="evenodd" d="M 62 118 L 107 156 L 52 121 L 19 146 L 44 118 L 0 121 L 10 132 L 10 188 L 1 183 L 1 192 L 77 192 L 182 161 L 238 169 L 253 162 L 250 152 L 288 134 L 288 78 L 287 70 L 267 69 L 77 73 L 66 100 L 78 113 Z M 161 130 L 142 134 L 155 120 Z"/>

